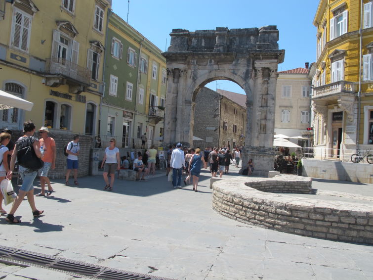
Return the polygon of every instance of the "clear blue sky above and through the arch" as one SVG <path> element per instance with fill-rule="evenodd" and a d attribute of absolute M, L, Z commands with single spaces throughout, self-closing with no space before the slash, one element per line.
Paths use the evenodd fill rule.
<path fill-rule="evenodd" d="M 319 0 L 130 0 L 128 24 L 162 51 L 174 28 L 189 31 L 216 27 L 250 28 L 277 25 L 285 60 L 278 71 L 304 67 L 316 58 L 316 27 L 312 24 Z M 113 0 L 113 11 L 127 20 L 128 0 Z M 207 87 L 244 93 L 229 81 Z"/>

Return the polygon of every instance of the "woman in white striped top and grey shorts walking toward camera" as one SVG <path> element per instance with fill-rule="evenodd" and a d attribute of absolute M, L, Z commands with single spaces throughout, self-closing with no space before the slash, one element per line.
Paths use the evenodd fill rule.
<path fill-rule="evenodd" d="M 121 168 L 119 149 L 115 146 L 116 143 L 117 141 L 114 138 L 110 139 L 110 146 L 106 147 L 104 158 L 102 159 L 101 164 L 101 168 L 104 168 L 104 173 L 102 175 L 106 183 L 104 189 L 108 189 L 110 191 L 113 190 L 115 172 Z M 110 174 L 110 184 L 108 174 Z"/>

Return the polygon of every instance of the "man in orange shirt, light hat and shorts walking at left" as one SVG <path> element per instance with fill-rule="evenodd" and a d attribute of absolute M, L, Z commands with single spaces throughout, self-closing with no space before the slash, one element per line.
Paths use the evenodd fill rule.
<path fill-rule="evenodd" d="M 39 139 L 39 145 L 41 151 L 43 151 L 42 161 L 44 162 L 44 166 L 39 169 L 39 177 L 40 177 L 40 187 L 41 192 L 36 196 L 45 196 L 45 184 L 48 185 L 48 192 L 46 195 L 51 195 L 53 192 L 53 188 L 50 185 L 50 180 L 48 178 L 48 172 L 50 169 L 56 168 L 56 143 L 53 138 L 48 136 L 49 130 L 47 127 L 42 126 L 39 130 L 39 134 L 41 139 Z"/>

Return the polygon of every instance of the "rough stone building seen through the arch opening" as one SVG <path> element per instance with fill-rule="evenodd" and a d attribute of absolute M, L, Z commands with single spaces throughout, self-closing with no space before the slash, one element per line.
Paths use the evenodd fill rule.
<path fill-rule="evenodd" d="M 196 97 L 193 146 L 245 145 L 246 95 L 203 88 Z"/>

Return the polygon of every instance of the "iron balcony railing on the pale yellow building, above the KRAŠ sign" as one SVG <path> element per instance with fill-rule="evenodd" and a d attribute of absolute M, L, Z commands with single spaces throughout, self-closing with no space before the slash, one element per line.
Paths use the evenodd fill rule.
<path fill-rule="evenodd" d="M 46 73 L 64 75 L 89 85 L 91 71 L 64 58 L 47 58 Z"/>

